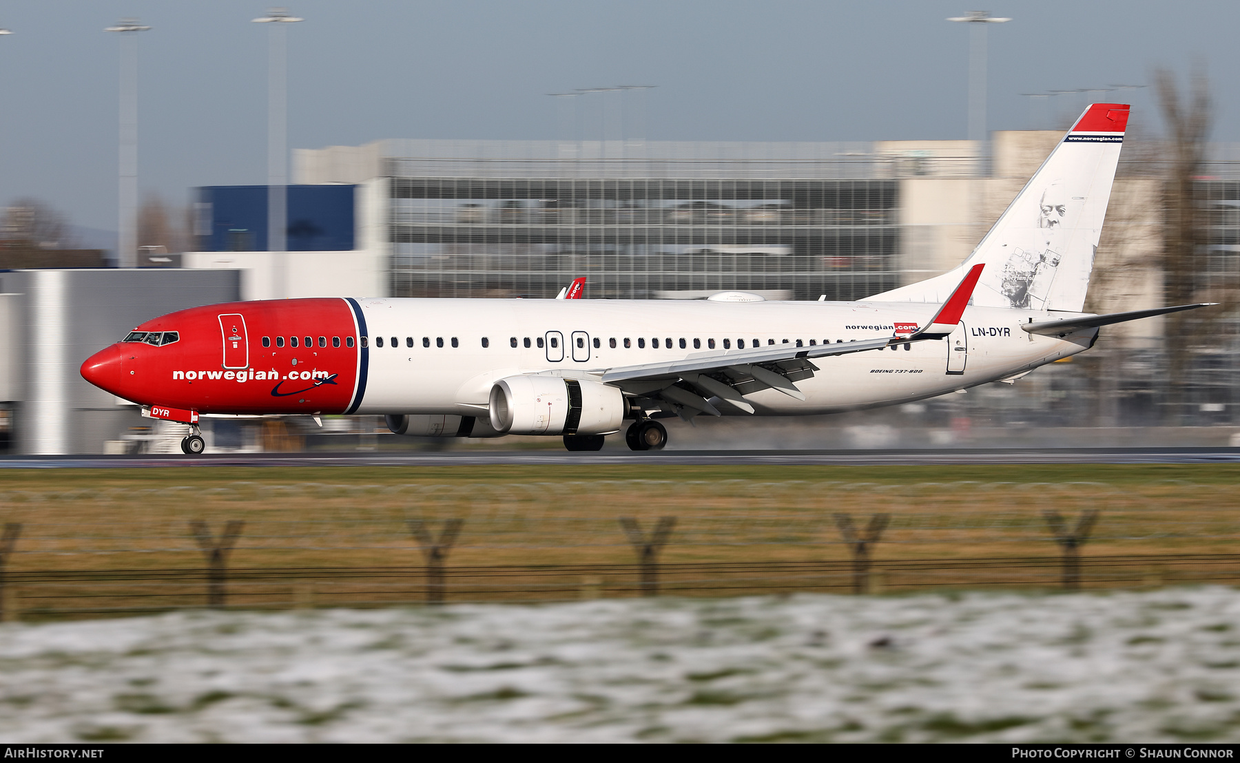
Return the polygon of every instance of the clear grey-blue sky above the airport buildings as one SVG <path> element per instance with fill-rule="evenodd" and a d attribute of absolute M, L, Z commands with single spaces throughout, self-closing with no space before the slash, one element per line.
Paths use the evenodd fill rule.
<path fill-rule="evenodd" d="M 991 129 L 1049 126 L 1084 103 L 1040 113 L 1021 93 L 1146 84 L 1152 67 L 1183 74 L 1197 56 L 1218 102 L 1213 137 L 1240 140 L 1235 2 L 300 0 L 289 145 L 553 139 L 547 93 L 627 83 L 658 85 L 652 140 L 963 137 L 967 28 L 944 19 L 973 7 L 1014 17 L 990 27 Z M 267 28 L 249 20 L 265 9 L 0 0 L 14 31 L 0 37 L 0 203 L 33 196 L 115 229 L 118 41 L 102 30 L 122 16 L 154 27 L 140 37 L 141 188 L 184 203 L 193 186 L 264 182 Z M 1161 129 L 1148 89 L 1125 99 L 1137 129 Z"/>

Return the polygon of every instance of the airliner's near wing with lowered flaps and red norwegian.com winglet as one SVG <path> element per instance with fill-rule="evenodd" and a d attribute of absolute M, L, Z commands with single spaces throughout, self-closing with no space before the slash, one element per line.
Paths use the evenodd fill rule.
<path fill-rule="evenodd" d="M 813 363 L 817 358 L 885 349 L 893 344 L 941 339 L 950 334 L 960 323 L 977 279 L 982 275 L 982 268 L 983 265 L 975 265 L 930 322 L 911 334 L 808 347 L 790 343 L 769 344 L 667 363 L 624 365 L 604 370 L 600 381 L 622 389 L 635 399 L 635 405 L 645 409 L 671 409 L 682 419 L 691 419 L 698 414 L 719 416 L 722 414 L 715 408 L 719 400 L 753 414 L 754 406 L 744 399 L 744 395 L 764 389 L 776 389 L 797 400 L 805 400 L 805 395 L 796 388 L 796 381 L 808 379 L 813 377 L 813 372 L 821 370 Z"/>

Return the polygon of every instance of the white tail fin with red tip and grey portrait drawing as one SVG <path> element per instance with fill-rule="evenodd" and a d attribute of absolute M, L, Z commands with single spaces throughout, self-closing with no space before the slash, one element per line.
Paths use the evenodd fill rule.
<path fill-rule="evenodd" d="M 973 305 L 1080 312 L 1127 123 L 1127 104 L 1085 109 L 967 260 L 868 299 L 942 302 L 965 272 L 985 264 Z"/>

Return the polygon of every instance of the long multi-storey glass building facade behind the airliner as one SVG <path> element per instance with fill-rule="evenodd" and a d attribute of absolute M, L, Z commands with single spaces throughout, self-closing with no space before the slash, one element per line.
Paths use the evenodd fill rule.
<path fill-rule="evenodd" d="M 808 160 L 768 144 L 713 160 L 699 144 L 616 145 L 609 160 L 609 146 L 533 141 L 427 156 L 439 142 L 387 141 L 393 296 L 549 297 L 578 276 L 593 299 L 899 285 L 898 181 L 841 159 L 846 145 L 812 144 Z"/>

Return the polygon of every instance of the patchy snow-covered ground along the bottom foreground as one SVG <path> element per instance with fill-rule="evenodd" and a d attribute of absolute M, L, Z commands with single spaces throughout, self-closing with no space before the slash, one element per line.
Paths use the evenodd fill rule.
<path fill-rule="evenodd" d="M 0 741 L 1240 741 L 1240 592 L 0 627 Z"/>

